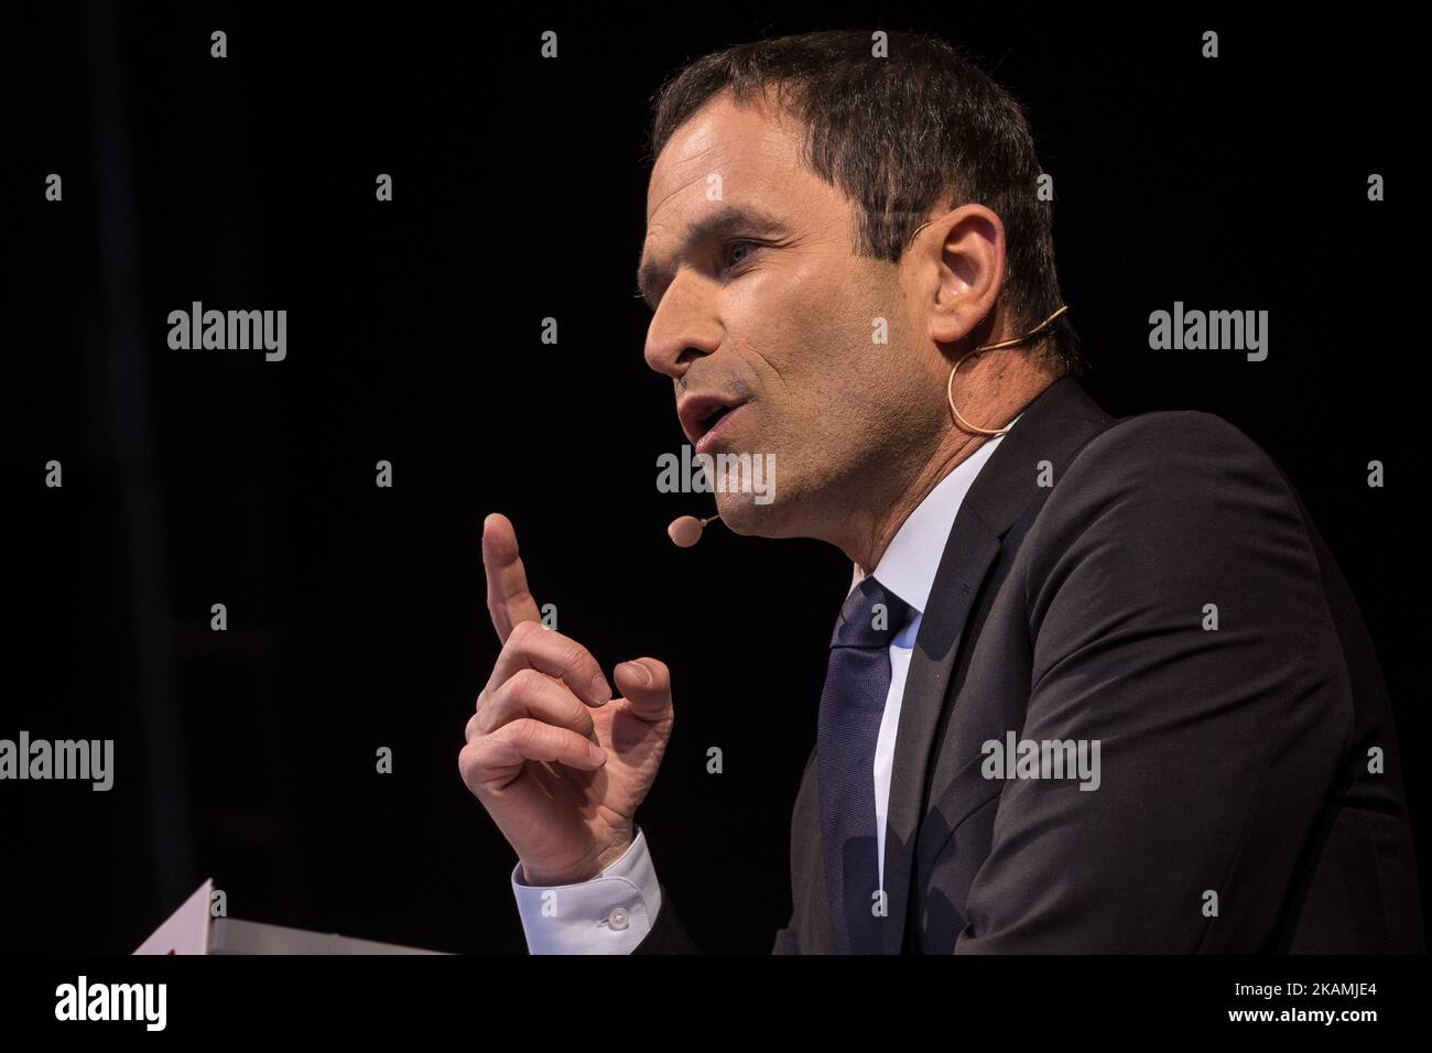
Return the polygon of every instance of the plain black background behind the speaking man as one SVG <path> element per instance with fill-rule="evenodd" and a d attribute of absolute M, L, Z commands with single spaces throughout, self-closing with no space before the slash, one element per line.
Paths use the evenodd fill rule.
<path fill-rule="evenodd" d="M 0 738 L 113 738 L 116 784 L 0 784 L 0 948 L 127 953 L 213 875 L 241 918 L 523 950 L 513 852 L 457 771 L 497 653 L 480 553 L 497 510 L 564 633 L 609 672 L 672 666 L 674 736 L 637 818 L 697 941 L 769 950 L 849 564 L 719 529 L 667 543 L 710 499 L 653 486 L 684 438 L 632 275 L 660 82 L 811 29 L 932 30 L 1025 100 L 1084 385 L 1116 415 L 1220 414 L 1292 476 L 1383 662 L 1422 828 L 1406 27 L 296 7 L 9 16 Z M 1372 172 L 1386 202 L 1366 199 Z M 286 361 L 170 351 L 166 315 L 195 299 L 288 309 Z M 1267 360 L 1150 351 L 1148 314 L 1176 299 L 1267 309 Z"/>

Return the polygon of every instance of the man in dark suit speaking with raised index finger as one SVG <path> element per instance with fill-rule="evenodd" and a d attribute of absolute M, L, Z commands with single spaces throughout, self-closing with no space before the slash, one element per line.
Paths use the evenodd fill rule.
<path fill-rule="evenodd" d="M 773 950 L 1421 948 L 1358 609 L 1237 428 L 1083 391 L 1018 103 L 935 40 L 790 37 L 669 83 L 653 155 L 646 361 L 697 451 L 780 470 L 720 514 L 855 564 Z M 503 516 L 483 554 L 460 769 L 530 948 L 695 950 L 634 821 L 666 665 L 607 681 Z"/>

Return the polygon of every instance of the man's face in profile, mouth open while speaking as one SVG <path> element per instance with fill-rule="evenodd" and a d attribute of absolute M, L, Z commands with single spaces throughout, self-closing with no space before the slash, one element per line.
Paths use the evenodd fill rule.
<path fill-rule="evenodd" d="M 855 206 L 799 152 L 788 117 L 719 96 L 647 188 L 646 361 L 673 378 L 699 453 L 773 454 L 773 501 L 715 494 L 729 527 L 766 537 L 829 537 L 898 487 L 944 421 L 939 358 L 909 337 L 899 268 L 855 255 Z M 697 441 L 706 397 L 740 405 Z"/>

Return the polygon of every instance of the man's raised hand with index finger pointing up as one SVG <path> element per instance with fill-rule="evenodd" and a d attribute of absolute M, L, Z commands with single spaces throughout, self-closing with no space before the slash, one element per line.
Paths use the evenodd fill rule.
<path fill-rule="evenodd" d="M 621 858 L 672 735 L 672 678 L 624 662 L 611 686 L 576 640 L 538 620 L 505 516 L 483 523 L 487 610 L 503 649 L 467 722 L 458 771 L 534 885 L 586 881 Z"/>

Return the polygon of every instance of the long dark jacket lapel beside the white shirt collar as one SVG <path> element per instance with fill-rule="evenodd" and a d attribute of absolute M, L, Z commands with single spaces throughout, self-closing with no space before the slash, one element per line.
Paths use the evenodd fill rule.
<path fill-rule="evenodd" d="M 1010 526 L 1040 494 L 1040 461 L 1053 464 L 1058 481 L 1073 454 L 1111 421 L 1077 380 L 1054 381 L 1025 407 L 1020 423 L 1000 441 L 955 516 L 921 617 L 895 732 L 885 819 L 884 884 L 889 911 L 884 925 L 885 954 L 899 954 L 904 947 L 925 774 L 975 597 L 1001 554 Z"/>

